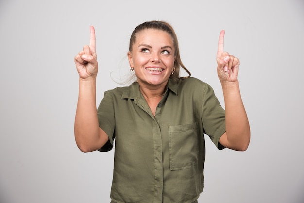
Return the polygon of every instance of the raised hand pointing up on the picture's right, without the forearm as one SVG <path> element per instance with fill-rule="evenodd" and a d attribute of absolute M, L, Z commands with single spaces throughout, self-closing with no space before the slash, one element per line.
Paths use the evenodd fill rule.
<path fill-rule="evenodd" d="M 225 31 L 220 32 L 217 63 L 218 63 L 218 76 L 220 82 L 235 82 L 237 81 L 239 59 L 228 52 L 224 52 L 224 36 Z"/>

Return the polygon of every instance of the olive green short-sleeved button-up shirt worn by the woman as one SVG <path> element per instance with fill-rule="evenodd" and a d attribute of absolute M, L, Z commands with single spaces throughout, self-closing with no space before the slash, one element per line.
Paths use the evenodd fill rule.
<path fill-rule="evenodd" d="M 99 126 L 115 157 L 111 199 L 117 203 L 192 203 L 203 191 L 204 134 L 220 145 L 225 111 L 206 83 L 169 79 L 155 117 L 137 82 L 106 91 Z"/>

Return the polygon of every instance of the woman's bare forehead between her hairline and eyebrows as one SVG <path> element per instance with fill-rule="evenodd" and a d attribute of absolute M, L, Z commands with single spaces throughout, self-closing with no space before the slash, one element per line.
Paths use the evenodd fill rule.
<path fill-rule="evenodd" d="M 173 38 L 168 32 L 157 29 L 144 29 L 136 34 L 135 44 L 148 42 L 173 45 Z"/>

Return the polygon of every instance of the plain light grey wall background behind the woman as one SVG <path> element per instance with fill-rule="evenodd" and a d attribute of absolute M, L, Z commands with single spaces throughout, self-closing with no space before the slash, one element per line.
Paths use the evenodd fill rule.
<path fill-rule="evenodd" d="M 303 0 L 1 0 L 1 203 L 110 202 L 113 151 L 82 153 L 74 141 L 73 58 L 94 25 L 99 103 L 127 78 L 131 32 L 153 19 L 172 24 L 184 64 L 222 104 L 221 29 L 225 51 L 241 61 L 251 143 L 218 151 L 206 139 L 199 203 L 304 202 Z"/>

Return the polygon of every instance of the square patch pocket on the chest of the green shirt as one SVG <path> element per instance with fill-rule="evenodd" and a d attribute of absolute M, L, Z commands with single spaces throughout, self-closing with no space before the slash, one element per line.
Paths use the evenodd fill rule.
<path fill-rule="evenodd" d="M 170 170 L 191 168 L 198 163 L 198 124 L 169 126 Z"/>

